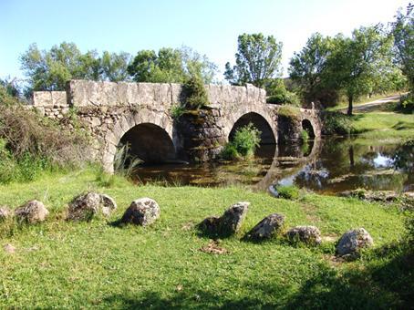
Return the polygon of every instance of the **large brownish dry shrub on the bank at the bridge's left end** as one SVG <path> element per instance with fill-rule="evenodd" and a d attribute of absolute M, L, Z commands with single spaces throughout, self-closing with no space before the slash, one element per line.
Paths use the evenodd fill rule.
<path fill-rule="evenodd" d="M 44 170 L 79 166 L 88 139 L 32 109 L 0 105 L 0 181 L 32 181 Z"/>

